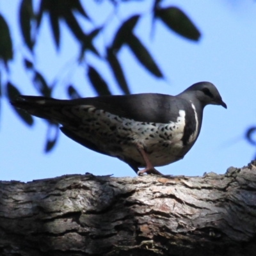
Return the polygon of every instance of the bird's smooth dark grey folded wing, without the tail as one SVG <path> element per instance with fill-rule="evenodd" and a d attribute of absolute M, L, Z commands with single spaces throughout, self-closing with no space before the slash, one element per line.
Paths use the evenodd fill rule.
<path fill-rule="evenodd" d="M 71 103 L 71 102 L 70 102 Z M 157 93 L 133 95 L 111 95 L 94 98 L 76 99 L 74 104 L 88 104 L 104 109 L 113 115 L 122 116 L 140 122 L 168 123 L 176 122 L 182 102 L 175 97 Z"/>

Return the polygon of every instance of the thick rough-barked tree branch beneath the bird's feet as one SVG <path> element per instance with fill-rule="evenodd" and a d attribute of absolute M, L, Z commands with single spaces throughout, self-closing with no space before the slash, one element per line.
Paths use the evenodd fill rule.
<path fill-rule="evenodd" d="M 0 255 L 255 255 L 255 166 L 1 182 Z"/>

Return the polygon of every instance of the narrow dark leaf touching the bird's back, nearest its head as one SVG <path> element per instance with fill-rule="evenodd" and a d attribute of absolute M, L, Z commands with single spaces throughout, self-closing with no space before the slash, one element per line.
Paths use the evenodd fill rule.
<path fill-rule="evenodd" d="M 122 70 L 122 67 L 117 60 L 115 54 L 113 53 L 113 49 L 108 49 L 108 56 L 107 56 L 108 63 L 111 67 L 111 70 L 113 71 L 113 74 L 115 76 L 115 79 L 120 87 L 120 89 L 125 94 L 130 94 L 128 84 L 126 83 L 124 72 Z"/>

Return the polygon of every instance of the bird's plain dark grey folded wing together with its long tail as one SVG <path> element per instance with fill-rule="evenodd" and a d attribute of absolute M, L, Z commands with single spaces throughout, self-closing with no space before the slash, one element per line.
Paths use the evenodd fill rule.
<path fill-rule="evenodd" d="M 57 100 L 47 97 L 22 96 L 12 101 L 13 106 L 25 109 L 31 115 L 49 118 L 46 109 L 81 105 L 94 106 L 113 115 L 140 122 L 176 122 L 179 110 L 184 108 L 183 99 L 177 100 L 170 95 L 140 93 L 133 95 L 108 95 L 74 100 Z M 185 100 L 186 101 L 186 100 Z"/>

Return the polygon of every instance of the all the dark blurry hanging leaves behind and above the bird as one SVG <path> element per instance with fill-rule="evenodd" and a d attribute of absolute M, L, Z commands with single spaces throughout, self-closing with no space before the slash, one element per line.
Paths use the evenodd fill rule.
<path fill-rule="evenodd" d="M 113 4 L 113 8 L 117 8 L 119 4 L 128 4 L 128 2 L 131 1 L 135 0 L 109 0 L 109 3 Z M 95 0 L 95 2 L 99 4 L 99 6 L 102 4 L 102 1 Z M 46 16 L 46 14 L 46 17 L 49 18 L 49 24 L 57 51 L 60 49 L 61 29 L 63 29 L 63 26 L 60 26 L 61 22 L 64 22 L 68 29 L 70 29 L 70 32 L 80 45 L 79 56 L 76 56 L 77 64 L 83 64 L 84 74 L 88 77 L 93 89 L 98 95 L 109 95 L 111 94 L 111 91 L 108 87 L 108 81 L 105 81 L 102 74 L 100 74 L 99 67 L 93 67 L 92 64 L 86 62 L 87 52 L 92 52 L 95 58 L 104 61 L 108 65 L 109 71 L 113 73 L 113 76 L 116 79 L 116 86 L 118 86 L 125 94 L 129 94 L 130 90 L 122 64 L 118 59 L 118 52 L 124 45 L 129 48 L 141 65 L 145 67 L 145 70 L 160 79 L 164 78 L 154 57 L 150 54 L 147 47 L 143 45 L 140 38 L 138 38 L 138 35 L 134 33 L 134 28 L 136 28 L 144 13 L 137 13 L 136 15 L 129 17 L 129 19 L 121 21 L 119 28 L 113 35 L 113 41 L 110 45 L 105 45 L 105 55 L 102 55 L 99 53 L 100 51 L 97 49 L 94 39 L 101 35 L 100 31 L 108 27 L 108 22 L 104 22 L 100 27 L 95 26 L 95 22 L 88 15 L 90 4 L 88 4 L 87 1 L 40 0 L 38 6 L 39 8 L 36 9 L 35 6 L 33 6 L 32 0 L 20 1 L 19 28 L 20 35 L 22 35 L 22 40 L 24 42 L 24 48 L 28 48 L 31 56 L 31 58 L 24 56 L 24 70 L 29 72 L 29 74 L 32 74 L 31 82 L 39 95 L 51 97 L 57 83 L 56 81 L 54 81 L 54 83 L 48 83 L 44 74 L 36 69 L 34 63 L 36 59 L 35 45 L 36 41 L 39 40 L 42 17 Z M 113 17 L 110 17 L 110 19 L 115 18 L 115 15 L 116 13 L 113 13 Z M 186 39 L 197 41 L 200 38 L 200 32 L 184 11 L 175 6 L 163 8 L 161 6 L 161 0 L 154 1 L 152 19 L 152 24 L 157 20 L 161 20 L 163 24 L 166 25 L 166 28 Z M 81 26 L 81 21 L 88 22 L 93 29 L 89 32 L 84 31 L 83 26 Z M 16 54 L 16 49 L 13 49 L 11 32 L 10 26 L 8 26 L 8 23 L 0 14 L 0 59 L 3 61 L 1 67 L 3 72 L 12 72 L 12 70 L 10 70 L 10 61 Z M 80 97 L 74 84 L 68 83 L 66 85 L 63 84 L 63 86 L 66 86 L 65 91 L 70 99 Z M 1 90 L 1 88 L 4 90 Z M 18 88 L 21 88 L 20 84 L 13 84 L 12 81 L 8 79 L 0 85 L 0 97 L 6 93 L 6 97 L 8 97 L 9 100 L 12 100 L 13 97 L 20 94 Z M 26 124 L 33 125 L 33 118 L 30 115 L 17 109 L 15 109 L 15 111 Z M 57 139 L 58 125 L 48 121 L 45 152 L 49 152 L 54 145 L 56 145 Z"/>

